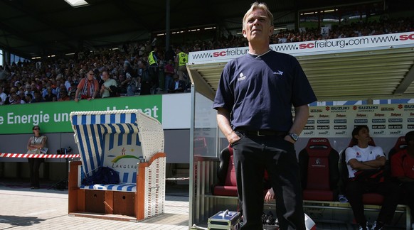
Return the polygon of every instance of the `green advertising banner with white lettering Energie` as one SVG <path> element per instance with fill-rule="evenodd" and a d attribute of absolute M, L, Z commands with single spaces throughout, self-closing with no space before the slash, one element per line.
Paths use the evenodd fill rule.
<path fill-rule="evenodd" d="M 0 106 L 0 134 L 31 133 L 35 125 L 42 133 L 73 132 L 70 112 L 117 109 L 139 109 L 161 122 L 162 95 Z"/>

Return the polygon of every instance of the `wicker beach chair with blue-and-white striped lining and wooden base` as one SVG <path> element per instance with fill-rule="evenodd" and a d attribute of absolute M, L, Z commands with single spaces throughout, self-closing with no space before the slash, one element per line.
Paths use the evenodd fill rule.
<path fill-rule="evenodd" d="M 159 121 L 137 109 L 72 112 L 70 121 L 80 153 L 80 162 L 70 163 L 71 214 L 147 219 L 164 213 L 166 156 Z M 114 169 L 120 183 L 82 185 L 100 167 Z"/>

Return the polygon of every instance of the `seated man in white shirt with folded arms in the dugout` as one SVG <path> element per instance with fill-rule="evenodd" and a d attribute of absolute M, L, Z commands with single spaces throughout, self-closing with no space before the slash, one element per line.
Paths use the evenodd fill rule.
<path fill-rule="evenodd" d="M 396 212 L 400 190 L 393 182 L 368 182 L 359 180 L 356 172 L 360 170 L 375 170 L 386 164 L 386 156 L 379 146 L 369 146 L 371 141 L 368 126 L 356 126 L 352 131 L 355 146 L 346 148 L 345 157 L 348 166 L 349 182 L 346 185 L 346 197 L 351 204 L 352 212 L 359 229 L 368 229 L 366 217 L 363 214 L 362 195 L 368 192 L 379 193 L 384 196 L 381 211 L 372 229 L 383 229 L 385 224 L 391 224 Z"/>

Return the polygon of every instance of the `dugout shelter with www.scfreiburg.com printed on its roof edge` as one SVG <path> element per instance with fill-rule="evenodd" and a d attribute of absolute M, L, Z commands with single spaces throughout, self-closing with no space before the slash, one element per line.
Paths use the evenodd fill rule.
<path fill-rule="evenodd" d="M 270 45 L 270 48 L 289 53 L 299 60 L 318 99 L 316 104 L 311 105 L 311 109 L 317 106 L 315 111 L 321 110 L 322 113 L 332 106 L 318 105 L 324 105 L 323 102 L 328 101 L 341 101 L 344 106 L 334 109 L 341 110 L 343 116 L 349 116 L 348 119 L 341 119 L 344 131 L 340 133 L 314 130 L 302 135 L 295 145 L 297 153 L 306 146 L 309 138 L 315 137 L 327 137 L 333 148 L 342 150 L 349 142 L 351 129 L 359 122 L 358 119 L 350 118 L 358 116 L 359 111 L 369 114 L 379 109 L 385 113 L 388 108 L 392 114 L 392 111 L 398 109 L 398 106 L 388 106 L 386 109 L 373 106 L 374 100 L 414 98 L 414 32 L 285 43 Z M 218 129 L 216 110 L 212 109 L 212 104 L 223 67 L 229 60 L 246 53 L 248 47 L 189 53 L 186 67 L 193 83 L 189 226 L 203 223 L 217 211 L 237 207 L 237 199 L 214 196 L 210 191 L 210 186 L 217 181 L 218 153 L 228 146 L 228 141 Z M 347 102 L 351 100 L 363 100 L 362 104 L 371 106 L 350 105 Z M 353 113 L 356 114 L 351 115 Z M 366 120 L 371 124 L 371 119 Z M 400 136 L 393 133 L 393 130 L 388 130 L 392 127 L 391 124 L 385 124 L 385 131 L 378 133 L 378 136 L 381 135 L 381 143 L 385 145 L 385 152 L 388 145 L 391 148 Z M 398 132 L 405 133 L 409 127 L 411 126 L 402 125 Z"/>

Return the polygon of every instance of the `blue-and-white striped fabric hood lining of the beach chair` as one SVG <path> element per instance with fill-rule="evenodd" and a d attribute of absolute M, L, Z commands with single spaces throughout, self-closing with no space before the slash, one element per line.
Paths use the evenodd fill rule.
<path fill-rule="evenodd" d="M 120 146 L 140 148 L 135 112 L 135 110 L 87 111 L 70 114 L 86 175 L 92 175 L 102 165 L 110 166 L 104 164 L 104 159 L 105 154 L 109 154 L 112 150 Z M 136 165 L 138 162 L 137 159 L 131 160 L 133 161 L 131 165 Z M 129 172 L 125 170 L 118 170 L 118 172 L 121 182 L 136 182 L 137 172 L 133 168 Z"/>

